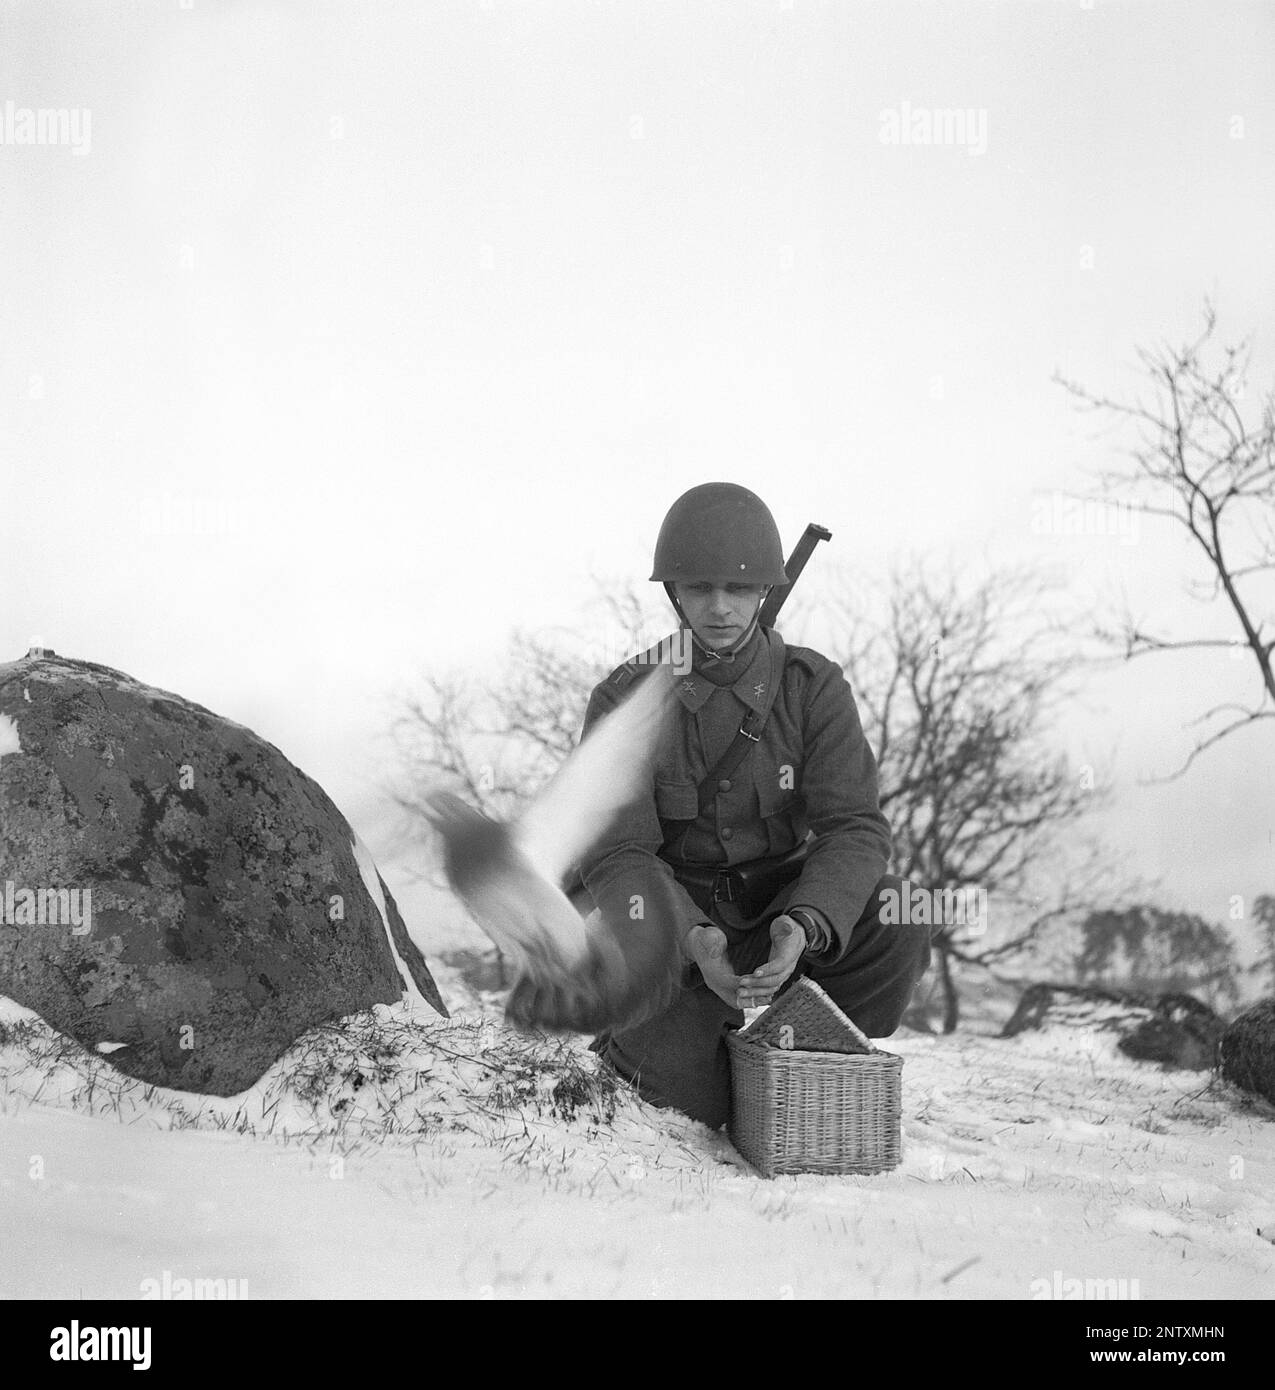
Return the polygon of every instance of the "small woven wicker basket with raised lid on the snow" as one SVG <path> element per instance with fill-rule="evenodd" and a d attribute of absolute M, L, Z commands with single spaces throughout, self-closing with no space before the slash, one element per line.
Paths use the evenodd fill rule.
<path fill-rule="evenodd" d="M 818 1052 L 776 1047 L 770 1031 L 751 1037 L 752 1029 L 745 1029 L 726 1038 L 734 1091 L 730 1137 L 744 1158 L 766 1177 L 895 1168 L 902 1154 L 902 1058 L 873 1048 L 858 1029 L 829 1038 L 840 1044 L 837 1051 Z M 861 1049 L 865 1044 L 870 1051 Z"/>

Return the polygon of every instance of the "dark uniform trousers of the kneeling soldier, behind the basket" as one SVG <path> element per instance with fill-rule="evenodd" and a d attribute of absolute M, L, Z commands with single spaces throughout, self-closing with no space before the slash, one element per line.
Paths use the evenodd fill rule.
<path fill-rule="evenodd" d="M 868 1037 L 888 1037 L 930 963 L 930 927 L 883 923 L 880 903 L 886 890 L 901 895 L 902 880 L 886 874 L 869 895 L 845 949 L 837 954 L 833 947 L 831 955 L 822 962 L 802 956 L 779 994 L 806 976 L 826 990 Z M 772 905 L 752 922 L 741 923 L 731 913 L 731 923 L 715 908 L 712 917 L 726 935 L 727 958 L 736 974 L 755 970 L 770 955 L 769 927 L 779 915 Z M 717 1129 L 730 1118 L 726 1034 L 744 1024 L 744 1015 L 713 994 L 698 970 L 691 976 L 694 983 L 683 987 L 667 1009 L 623 1033 L 603 1033 L 592 1047 L 637 1086 L 642 1099 L 681 1111 Z"/>

